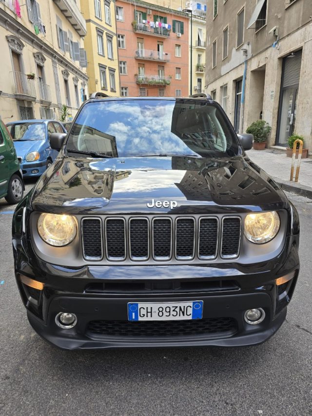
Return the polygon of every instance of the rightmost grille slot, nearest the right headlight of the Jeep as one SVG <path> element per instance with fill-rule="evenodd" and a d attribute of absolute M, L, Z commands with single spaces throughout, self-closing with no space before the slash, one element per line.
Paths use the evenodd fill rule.
<path fill-rule="evenodd" d="M 239 253 L 241 235 L 241 218 L 222 218 L 222 258 L 235 258 Z"/>

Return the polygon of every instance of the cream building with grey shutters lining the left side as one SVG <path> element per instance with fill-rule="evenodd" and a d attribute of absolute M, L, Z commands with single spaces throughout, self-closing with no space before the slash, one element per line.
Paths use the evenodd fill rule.
<path fill-rule="evenodd" d="M 0 117 L 72 119 L 87 98 L 80 0 L 0 0 Z"/>

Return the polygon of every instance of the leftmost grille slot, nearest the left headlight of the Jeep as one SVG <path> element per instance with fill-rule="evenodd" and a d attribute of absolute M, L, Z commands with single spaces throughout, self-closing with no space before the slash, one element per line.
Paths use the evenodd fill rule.
<path fill-rule="evenodd" d="M 102 221 L 100 218 L 82 219 L 83 257 L 86 260 L 100 260 L 102 250 Z"/>

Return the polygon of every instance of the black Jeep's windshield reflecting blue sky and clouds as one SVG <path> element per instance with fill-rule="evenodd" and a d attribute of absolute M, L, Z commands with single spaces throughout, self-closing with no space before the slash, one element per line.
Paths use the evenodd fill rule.
<path fill-rule="evenodd" d="M 66 150 L 111 157 L 232 157 L 241 153 L 214 104 L 183 99 L 87 103 L 71 130 Z"/>

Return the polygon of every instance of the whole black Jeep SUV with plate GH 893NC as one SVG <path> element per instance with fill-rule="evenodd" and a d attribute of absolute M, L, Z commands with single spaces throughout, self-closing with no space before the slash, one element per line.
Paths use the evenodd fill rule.
<path fill-rule="evenodd" d="M 65 349 L 258 344 L 281 326 L 299 221 L 209 97 L 91 99 L 13 218 L 33 328 Z"/>

